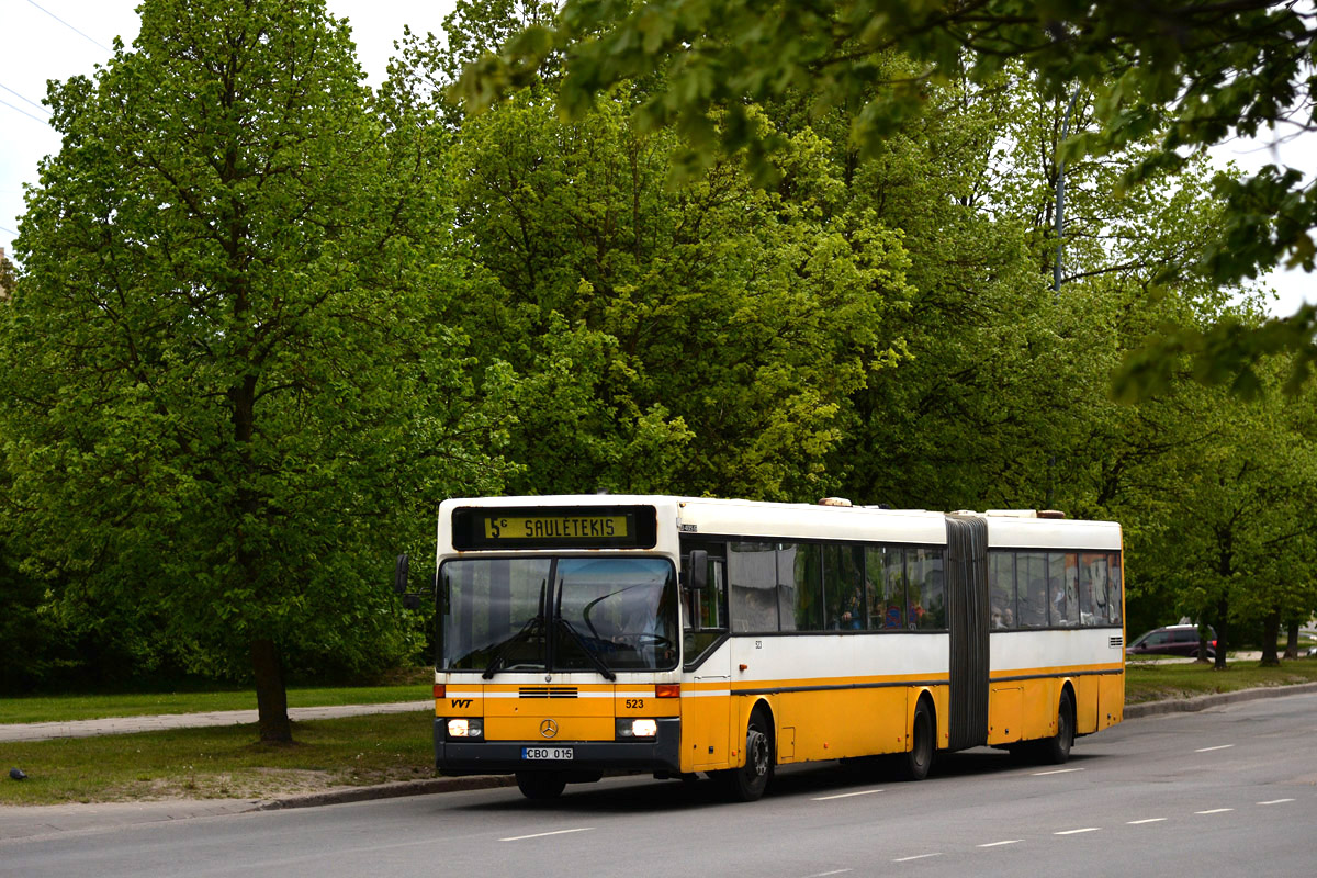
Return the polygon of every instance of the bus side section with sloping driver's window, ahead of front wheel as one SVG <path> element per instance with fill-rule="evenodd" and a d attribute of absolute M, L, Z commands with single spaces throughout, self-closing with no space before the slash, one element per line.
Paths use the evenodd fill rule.
<path fill-rule="evenodd" d="M 681 765 L 689 771 L 727 767 L 731 737 L 727 563 L 719 557 L 722 546 L 707 549 L 707 584 L 701 591 L 684 591 L 682 606 Z M 682 566 L 687 563 L 689 554 L 682 558 Z"/>

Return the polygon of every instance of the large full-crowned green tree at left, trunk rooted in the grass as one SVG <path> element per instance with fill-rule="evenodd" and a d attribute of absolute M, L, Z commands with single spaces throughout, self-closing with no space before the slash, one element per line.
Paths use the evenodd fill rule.
<path fill-rule="evenodd" d="M 246 666 L 286 741 L 290 657 L 411 648 L 389 558 L 443 495 L 499 490 L 499 433 L 439 323 L 461 288 L 427 146 L 373 105 L 346 28 L 316 1 L 141 17 L 51 87 L 63 146 L 0 321 L 7 512 L 65 612 Z"/>

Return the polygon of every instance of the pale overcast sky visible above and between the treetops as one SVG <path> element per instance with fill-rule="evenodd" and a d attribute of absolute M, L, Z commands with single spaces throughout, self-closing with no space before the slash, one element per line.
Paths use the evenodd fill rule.
<path fill-rule="evenodd" d="M 37 179 L 37 162 L 59 150 L 59 136 L 46 125 L 41 100 L 46 80 L 91 75 L 113 53 L 113 38 L 132 45 L 137 37 L 138 0 L 0 0 L 0 246 L 13 255 L 22 184 Z M 440 33 L 453 0 L 327 0 L 329 12 L 346 17 L 357 57 L 373 84 L 383 78 L 394 39 L 403 25 L 417 33 Z M 1314 138 L 1308 138 L 1312 141 Z M 1256 145 L 1225 145 L 1218 157 L 1234 157 L 1252 168 L 1275 161 Z M 1280 159 L 1312 179 L 1317 149 L 1281 147 Z M 1317 301 L 1317 275 L 1277 272 L 1267 283 L 1280 295 L 1271 311 L 1288 315 L 1306 297 Z"/>

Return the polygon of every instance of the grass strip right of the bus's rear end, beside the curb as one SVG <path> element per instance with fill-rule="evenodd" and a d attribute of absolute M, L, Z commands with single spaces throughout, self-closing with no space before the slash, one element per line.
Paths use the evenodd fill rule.
<path fill-rule="evenodd" d="M 1223 671 L 1197 662 L 1148 661 L 1126 666 L 1125 703 L 1313 682 L 1317 682 L 1317 658 L 1292 658 L 1281 661 L 1280 667 L 1260 667 L 1256 659 L 1235 659 L 1227 662 Z"/>

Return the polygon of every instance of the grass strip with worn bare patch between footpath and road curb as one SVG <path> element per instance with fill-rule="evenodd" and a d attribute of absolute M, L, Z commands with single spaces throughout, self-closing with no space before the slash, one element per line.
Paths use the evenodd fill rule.
<path fill-rule="evenodd" d="M 433 775 L 431 713 L 295 723 L 291 746 L 257 744 L 255 725 L 4 745 L 0 806 L 155 799 L 267 799 Z"/>

